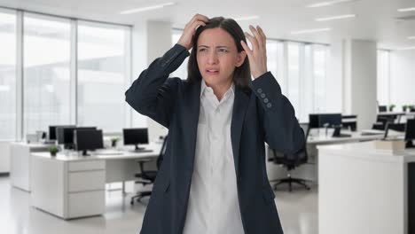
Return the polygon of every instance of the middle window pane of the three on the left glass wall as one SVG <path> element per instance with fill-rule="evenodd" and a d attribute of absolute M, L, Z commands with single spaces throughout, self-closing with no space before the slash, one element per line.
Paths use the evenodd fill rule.
<path fill-rule="evenodd" d="M 24 133 L 70 120 L 70 21 L 24 14 Z"/>

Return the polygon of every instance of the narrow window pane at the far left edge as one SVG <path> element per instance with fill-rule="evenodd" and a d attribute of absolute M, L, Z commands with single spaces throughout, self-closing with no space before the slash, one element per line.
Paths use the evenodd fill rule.
<path fill-rule="evenodd" d="M 16 14 L 0 12 L 0 140 L 16 138 Z"/>

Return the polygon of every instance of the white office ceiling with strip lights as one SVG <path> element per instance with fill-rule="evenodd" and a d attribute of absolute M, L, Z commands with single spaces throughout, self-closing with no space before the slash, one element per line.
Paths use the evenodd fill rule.
<path fill-rule="evenodd" d="M 174 27 L 184 27 L 195 13 L 207 17 L 238 18 L 259 15 L 256 20 L 239 21 L 244 30 L 247 25 L 260 25 L 270 38 L 283 38 L 317 43 L 331 43 L 341 38 L 375 40 L 380 48 L 396 49 L 415 46 L 413 20 L 396 20 L 396 17 L 415 16 L 415 12 L 397 12 L 398 8 L 415 7 L 415 0 L 360 0 L 321 8 L 306 5 L 327 0 L 0 0 L 0 6 L 46 12 L 88 20 L 101 20 L 134 25 L 141 20 L 163 20 Z M 149 12 L 121 15 L 121 11 L 153 4 L 176 2 L 175 5 Z M 355 19 L 317 22 L 319 17 L 356 14 Z M 332 27 L 329 32 L 309 35 L 290 35 L 291 31 L 319 27 Z"/>

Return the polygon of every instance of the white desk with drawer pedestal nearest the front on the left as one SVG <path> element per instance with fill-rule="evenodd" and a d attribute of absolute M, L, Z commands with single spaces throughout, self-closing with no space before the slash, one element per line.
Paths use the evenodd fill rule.
<path fill-rule="evenodd" d="M 32 153 L 31 205 L 63 219 L 104 214 L 106 183 L 134 180 L 137 160 L 156 159 L 161 144 L 147 148 L 153 152 L 86 157 Z"/>

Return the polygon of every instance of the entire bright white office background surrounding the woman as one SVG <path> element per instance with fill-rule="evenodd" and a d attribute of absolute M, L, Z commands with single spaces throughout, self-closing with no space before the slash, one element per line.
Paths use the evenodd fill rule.
<path fill-rule="evenodd" d="M 168 129 L 124 92 L 195 13 L 267 35 L 307 137 L 267 147 L 285 233 L 415 233 L 414 1 L 0 0 L 2 233 L 139 232 Z"/>

